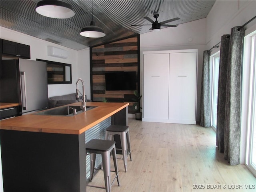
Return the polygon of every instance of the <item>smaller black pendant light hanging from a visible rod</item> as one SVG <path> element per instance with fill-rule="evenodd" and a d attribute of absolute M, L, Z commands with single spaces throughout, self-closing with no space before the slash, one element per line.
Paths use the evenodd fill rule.
<path fill-rule="evenodd" d="M 85 37 L 91 37 L 91 38 L 99 38 L 99 37 L 106 36 L 102 28 L 95 26 L 95 22 L 93 20 L 93 8 L 92 8 L 92 21 L 90 23 L 90 26 L 86 26 L 85 28 L 82 28 L 80 35 Z"/>

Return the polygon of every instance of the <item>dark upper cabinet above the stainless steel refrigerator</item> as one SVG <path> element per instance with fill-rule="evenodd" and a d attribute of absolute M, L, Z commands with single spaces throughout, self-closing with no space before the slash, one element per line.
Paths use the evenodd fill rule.
<path fill-rule="evenodd" d="M 2 56 L 30 59 L 30 46 L 1 39 Z"/>

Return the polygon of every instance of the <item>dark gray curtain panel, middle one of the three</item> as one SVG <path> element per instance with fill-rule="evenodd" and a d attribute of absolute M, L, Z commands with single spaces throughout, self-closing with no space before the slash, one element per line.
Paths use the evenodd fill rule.
<path fill-rule="evenodd" d="M 230 35 L 223 35 L 220 43 L 220 66 L 218 80 L 218 104 L 217 104 L 217 128 L 216 146 L 220 152 L 224 152 L 225 107 L 228 70 L 228 52 Z"/>

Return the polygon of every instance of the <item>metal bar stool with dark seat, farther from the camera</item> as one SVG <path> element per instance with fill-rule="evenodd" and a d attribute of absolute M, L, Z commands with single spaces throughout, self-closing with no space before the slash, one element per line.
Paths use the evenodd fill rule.
<path fill-rule="evenodd" d="M 129 127 L 123 126 L 123 125 L 111 125 L 108 128 L 106 128 L 105 139 L 106 140 L 114 140 L 114 135 L 116 135 L 116 134 L 120 135 L 122 154 L 123 154 L 123 160 L 124 160 L 124 169 L 125 169 L 125 172 L 127 172 L 127 157 L 128 157 L 128 155 L 130 155 L 130 160 L 132 161 Z M 128 151 L 127 151 L 127 144 L 128 144 Z M 118 148 L 116 148 L 116 149 L 118 149 Z"/>

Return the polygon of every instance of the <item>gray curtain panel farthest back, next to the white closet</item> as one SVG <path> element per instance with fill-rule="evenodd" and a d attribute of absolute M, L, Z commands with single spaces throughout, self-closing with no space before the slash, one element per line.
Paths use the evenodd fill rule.
<path fill-rule="evenodd" d="M 201 122 L 203 127 L 211 126 L 210 116 L 210 52 L 204 51 L 201 86 Z"/>

